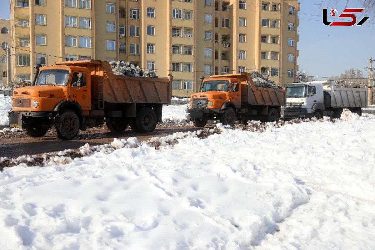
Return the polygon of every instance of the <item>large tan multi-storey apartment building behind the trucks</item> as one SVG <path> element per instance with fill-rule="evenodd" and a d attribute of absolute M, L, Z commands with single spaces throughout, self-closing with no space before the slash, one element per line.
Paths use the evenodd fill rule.
<path fill-rule="evenodd" d="M 12 75 L 61 60 L 125 60 L 173 75 L 173 96 L 201 77 L 257 70 L 296 80 L 297 0 L 11 0 Z M 32 51 L 32 52 L 30 52 Z"/>

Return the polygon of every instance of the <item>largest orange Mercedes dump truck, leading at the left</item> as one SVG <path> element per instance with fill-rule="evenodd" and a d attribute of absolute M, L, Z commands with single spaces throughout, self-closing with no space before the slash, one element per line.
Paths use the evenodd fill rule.
<path fill-rule="evenodd" d="M 111 131 L 153 131 L 161 121 L 162 105 L 171 103 L 172 76 L 168 79 L 114 75 L 108 62 L 99 60 L 35 65 L 31 86 L 13 90 L 11 127 L 31 137 L 48 129 L 62 140 L 79 130 L 107 124 Z"/>

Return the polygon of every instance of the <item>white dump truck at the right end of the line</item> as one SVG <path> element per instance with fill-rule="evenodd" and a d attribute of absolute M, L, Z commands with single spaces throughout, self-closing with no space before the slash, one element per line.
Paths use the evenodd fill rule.
<path fill-rule="evenodd" d="M 323 116 L 339 118 L 348 108 L 362 115 L 367 107 L 368 88 L 339 88 L 332 80 L 285 84 L 287 105 L 281 108 L 281 119 Z"/>

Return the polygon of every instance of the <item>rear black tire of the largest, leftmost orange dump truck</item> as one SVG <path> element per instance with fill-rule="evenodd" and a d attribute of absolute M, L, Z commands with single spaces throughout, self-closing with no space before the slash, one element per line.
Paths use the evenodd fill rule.
<path fill-rule="evenodd" d="M 156 123 L 156 112 L 152 108 L 145 107 L 138 111 L 133 127 L 135 126 L 139 133 L 148 133 L 155 130 Z"/>

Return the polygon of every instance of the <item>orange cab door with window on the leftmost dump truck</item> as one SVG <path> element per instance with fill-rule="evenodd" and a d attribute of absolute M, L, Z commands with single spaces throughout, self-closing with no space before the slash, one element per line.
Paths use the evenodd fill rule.
<path fill-rule="evenodd" d="M 83 110 L 90 109 L 90 93 L 89 93 L 89 86 L 87 84 L 87 80 L 89 78 L 87 72 L 82 73 L 82 80 L 81 82 L 78 81 L 78 76 L 80 72 L 73 72 L 72 80 L 71 80 L 71 87 L 70 87 L 70 99 L 78 102 Z M 80 86 L 78 86 L 80 85 Z"/>

